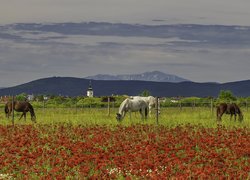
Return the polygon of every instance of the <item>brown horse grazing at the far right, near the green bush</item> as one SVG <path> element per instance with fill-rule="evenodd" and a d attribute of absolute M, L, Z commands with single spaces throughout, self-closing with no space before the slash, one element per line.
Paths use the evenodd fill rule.
<path fill-rule="evenodd" d="M 224 113 L 230 114 L 230 120 L 232 120 L 232 116 L 234 115 L 234 120 L 236 121 L 237 114 L 239 116 L 239 121 L 243 120 L 243 114 L 239 106 L 237 106 L 237 104 L 235 103 L 232 103 L 232 104 L 221 103 L 217 107 L 217 120 L 221 121 L 221 117 Z"/>

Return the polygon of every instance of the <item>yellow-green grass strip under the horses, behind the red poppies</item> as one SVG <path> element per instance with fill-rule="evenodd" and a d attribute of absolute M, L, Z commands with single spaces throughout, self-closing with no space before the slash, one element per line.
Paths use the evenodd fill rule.
<path fill-rule="evenodd" d="M 155 114 L 146 121 L 142 121 L 139 113 L 127 113 L 122 122 L 117 122 L 117 108 L 110 109 L 110 115 L 106 108 L 36 108 L 35 113 L 39 124 L 66 123 L 72 125 L 108 125 L 116 126 L 122 124 L 129 126 L 137 123 L 157 124 Z M 244 121 L 230 121 L 229 115 L 223 115 L 221 124 L 226 127 L 250 127 L 250 110 L 242 109 Z M 26 122 L 18 120 L 21 113 L 15 112 L 15 124 L 31 124 L 30 114 L 27 114 Z M 10 125 L 11 118 L 5 118 L 4 112 L 0 112 L 0 124 Z M 178 125 L 195 124 L 205 127 L 217 127 L 215 109 L 211 112 L 207 107 L 195 108 L 161 108 L 158 122 L 160 125 L 175 127 Z"/>

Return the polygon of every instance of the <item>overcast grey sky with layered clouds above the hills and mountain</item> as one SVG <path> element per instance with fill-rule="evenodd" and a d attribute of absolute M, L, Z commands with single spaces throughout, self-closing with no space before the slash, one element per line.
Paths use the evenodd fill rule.
<path fill-rule="evenodd" d="M 86 77 L 154 70 L 196 82 L 249 79 L 250 41 L 241 41 L 245 39 L 242 34 L 250 36 L 246 27 L 250 26 L 249 9 L 248 0 L 1 0 L 0 87 L 51 76 Z M 67 33 L 67 29 L 59 32 L 28 28 L 27 24 L 23 28 L 14 26 L 90 21 L 150 25 L 145 27 L 147 31 L 170 24 L 238 27 L 234 28 L 236 31 L 230 30 L 233 38 L 227 41 L 220 39 L 225 31 L 219 28 L 209 36 L 206 31 L 206 36 L 199 34 L 197 38 L 193 27 L 194 33 L 188 32 L 192 37 L 186 37 L 185 32 L 167 37 L 153 32 L 122 34 L 120 26 L 115 30 L 108 26 L 113 34 L 105 35 L 99 31 Z M 69 24 L 59 29 L 66 27 Z"/>

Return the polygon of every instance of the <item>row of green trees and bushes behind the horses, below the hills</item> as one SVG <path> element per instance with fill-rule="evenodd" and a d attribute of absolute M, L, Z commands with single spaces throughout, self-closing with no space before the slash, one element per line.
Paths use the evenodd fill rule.
<path fill-rule="evenodd" d="M 151 95 L 149 91 L 145 90 L 138 94 L 141 96 Z M 107 104 L 111 107 L 119 107 L 121 102 L 129 96 L 116 95 L 116 96 L 103 96 L 103 97 L 66 97 L 56 95 L 27 95 L 21 93 L 15 96 L 15 100 L 18 101 L 30 101 L 34 107 L 107 107 Z M 11 97 L 9 97 L 11 98 Z M 250 97 L 236 97 L 229 90 L 222 90 L 218 94 L 218 97 L 159 97 L 161 107 L 193 107 L 193 106 L 211 106 L 211 103 L 215 106 L 221 102 L 235 102 L 240 106 L 248 106 L 250 104 Z"/>

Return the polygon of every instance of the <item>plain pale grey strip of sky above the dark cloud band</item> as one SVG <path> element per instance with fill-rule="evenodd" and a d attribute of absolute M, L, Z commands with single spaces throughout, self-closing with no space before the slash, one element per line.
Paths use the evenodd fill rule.
<path fill-rule="evenodd" d="M 247 0 L 3 0 L 0 24 L 112 22 L 250 25 Z M 155 21 L 156 22 L 156 21 Z M 154 23 L 155 23 L 154 22 Z"/>

